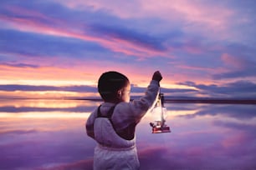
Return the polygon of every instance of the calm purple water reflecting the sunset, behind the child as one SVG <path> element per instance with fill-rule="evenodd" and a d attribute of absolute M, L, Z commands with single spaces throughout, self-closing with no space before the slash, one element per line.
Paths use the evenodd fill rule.
<path fill-rule="evenodd" d="M 84 122 L 100 102 L 1 100 L 0 169 L 92 169 Z M 166 103 L 172 133 L 137 127 L 141 169 L 256 169 L 256 105 Z"/>

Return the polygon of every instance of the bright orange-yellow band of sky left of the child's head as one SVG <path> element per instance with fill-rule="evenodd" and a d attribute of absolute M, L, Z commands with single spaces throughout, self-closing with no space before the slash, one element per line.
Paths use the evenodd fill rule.
<path fill-rule="evenodd" d="M 10 67 L 0 65 L 0 84 L 33 85 L 95 85 L 94 74 L 74 68 L 61 67 Z M 94 69 L 92 69 L 94 70 Z M 17 74 L 18 72 L 18 74 Z M 87 73 L 87 74 L 84 74 Z"/>

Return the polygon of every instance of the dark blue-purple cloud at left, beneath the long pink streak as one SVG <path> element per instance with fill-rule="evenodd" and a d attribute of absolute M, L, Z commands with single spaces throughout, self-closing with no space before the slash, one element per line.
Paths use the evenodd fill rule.
<path fill-rule="evenodd" d="M 24 61 L 28 57 L 67 57 L 71 59 L 82 58 L 84 54 L 94 55 L 95 51 L 108 53 L 104 47 L 93 42 L 83 42 L 72 37 L 53 37 L 13 30 L 0 30 L 0 36 L 2 37 L 0 40 L 2 42 L 0 44 L 1 52 L 11 53 L 13 56 L 22 55 L 23 58 L 17 58 Z M 14 44 L 15 46 L 13 46 Z M 26 65 L 21 64 L 21 66 Z"/>

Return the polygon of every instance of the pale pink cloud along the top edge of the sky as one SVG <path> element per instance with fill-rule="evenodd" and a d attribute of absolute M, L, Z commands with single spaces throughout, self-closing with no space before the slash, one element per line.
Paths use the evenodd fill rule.
<path fill-rule="evenodd" d="M 67 7 L 107 11 L 119 18 L 161 18 L 170 23 L 168 28 L 179 25 L 186 32 L 200 32 L 208 37 L 230 37 L 230 18 L 235 12 L 218 3 L 190 0 L 141 0 L 138 2 L 59 1 Z M 172 24 L 171 24 L 172 23 Z M 167 26 L 168 24 L 166 24 Z M 182 25 L 182 26 L 181 26 Z M 216 36 L 218 35 L 218 36 Z"/>

